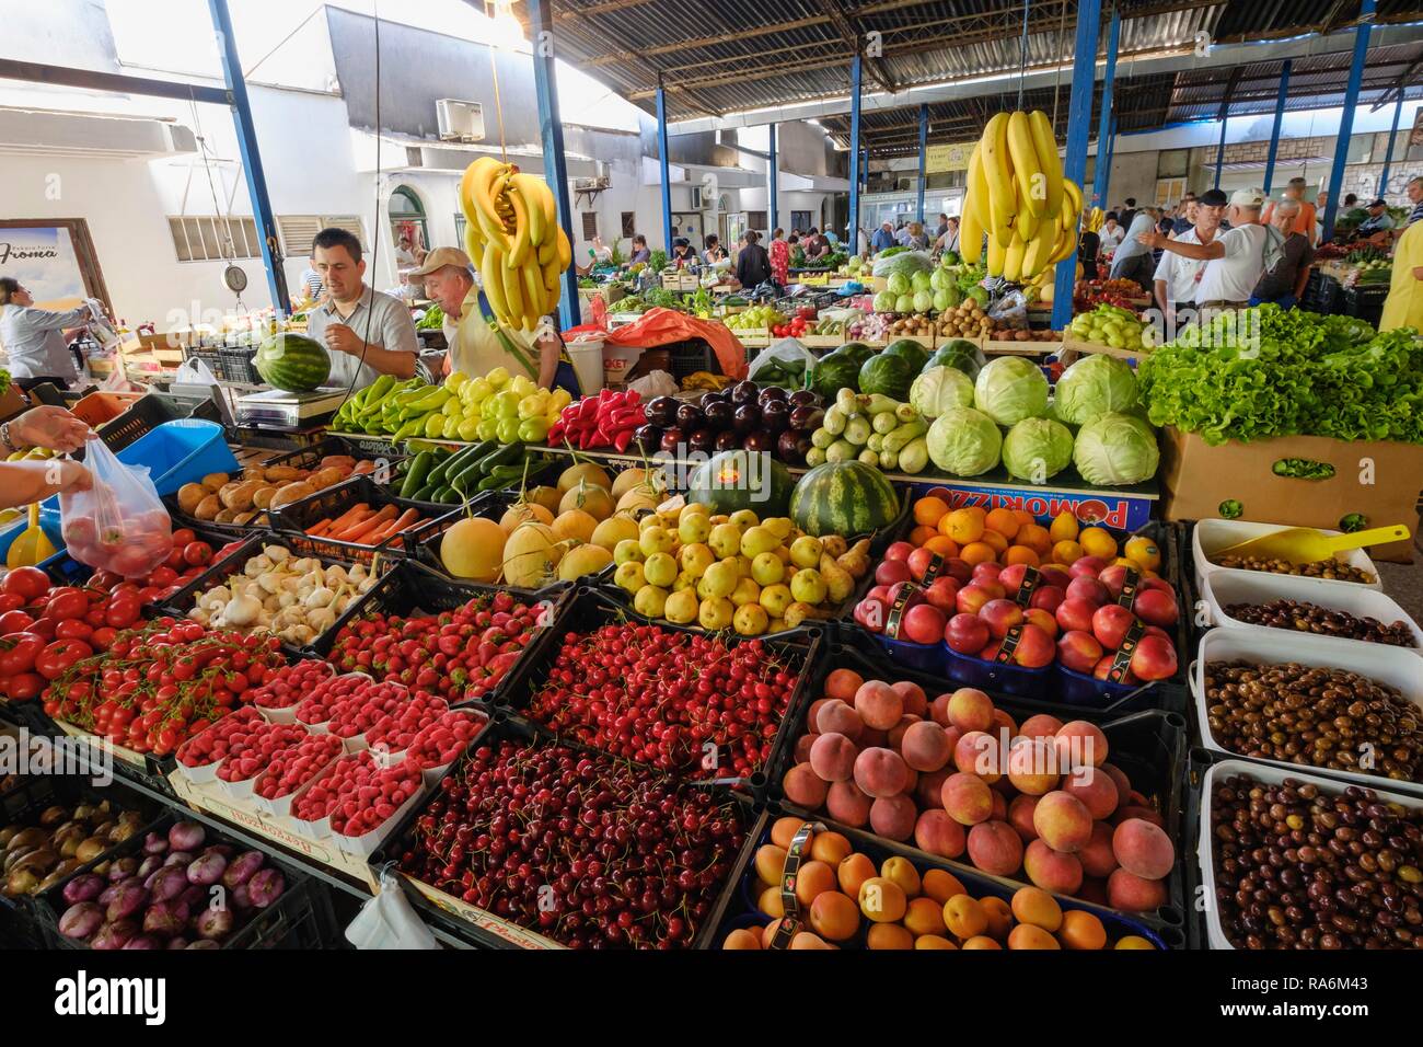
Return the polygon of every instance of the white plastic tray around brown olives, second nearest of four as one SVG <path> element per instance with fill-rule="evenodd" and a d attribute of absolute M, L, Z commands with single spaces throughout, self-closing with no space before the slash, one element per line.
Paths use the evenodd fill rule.
<path fill-rule="evenodd" d="M 1318 637 L 1285 632 L 1284 630 L 1218 628 L 1201 637 L 1200 652 L 1191 667 L 1191 698 L 1201 729 L 1201 744 L 1211 752 L 1245 759 L 1259 766 L 1278 766 L 1292 772 L 1309 771 L 1340 782 L 1368 785 L 1370 789 L 1396 789 L 1423 795 L 1423 782 L 1399 782 L 1383 775 L 1365 775 L 1356 771 L 1305 768 L 1282 759 L 1261 759 L 1227 749 L 1215 741 L 1205 714 L 1205 664 L 1212 661 L 1245 661 L 1258 665 L 1292 661 L 1301 665 L 1349 670 L 1380 684 L 1399 688 L 1407 701 L 1423 709 L 1423 671 L 1420 671 L 1416 654 L 1402 647 L 1385 644 L 1322 644 L 1318 642 Z"/>

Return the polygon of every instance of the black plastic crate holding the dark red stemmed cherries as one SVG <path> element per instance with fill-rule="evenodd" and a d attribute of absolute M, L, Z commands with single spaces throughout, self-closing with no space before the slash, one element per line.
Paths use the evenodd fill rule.
<path fill-rule="evenodd" d="M 605 754 L 599 754 L 593 749 L 589 749 L 585 745 L 579 745 L 569 739 L 559 739 L 551 735 L 548 731 L 544 731 L 538 725 L 529 724 L 519 718 L 511 718 L 502 714 L 497 714 L 494 719 L 490 721 L 484 732 L 481 732 L 475 739 L 471 741 L 470 749 L 454 765 L 450 775 L 447 775 L 445 781 L 450 781 L 450 778 L 457 776 L 460 773 L 464 761 L 468 759 L 470 751 L 481 745 L 498 746 L 502 741 L 524 742 L 529 746 L 562 745 L 569 749 L 586 752 L 589 758 L 592 758 L 593 761 L 613 762 L 612 758 Z M 625 761 L 618 761 L 618 762 L 625 762 Z M 652 773 L 652 776 L 665 778 L 656 773 Z M 719 802 L 734 803 L 740 812 L 740 818 L 746 829 L 746 843 L 741 846 L 741 850 L 737 855 L 736 862 L 733 863 L 727 880 L 719 886 L 714 900 L 712 902 L 710 909 L 707 912 L 707 916 L 703 920 L 702 926 L 697 929 L 689 946 L 690 949 L 714 949 L 720 942 L 720 939 L 717 937 L 717 930 L 726 917 L 729 906 L 736 905 L 736 892 L 739 890 L 739 885 L 747 872 L 747 866 L 750 865 L 753 855 L 756 853 L 756 842 L 761 838 L 761 835 L 766 830 L 766 815 L 760 813 L 758 806 L 754 805 L 750 801 L 750 798 L 744 795 L 739 795 L 717 786 L 707 788 L 707 786 L 686 785 L 682 788 L 687 789 L 696 788 L 707 791 L 712 792 L 712 795 Z M 394 832 L 390 833 L 381 849 L 371 856 L 371 866 L 384 866 L 387 863 L 397 866 L 397 875 L 400 876 L 400 882 L 404 886 L 406 896 L 410 899 L 411 905 L 420 913 L 421 919 L 458 942 L 481 947 L 491 947 L 491 949 L 541 947 L 535 943 L 518 940 L 517 927 L 512 930 L 508 926 L 498 929 L 491 926 L 494 920 L 481 924 L 475 923 L 472 919 L 467 919 L 465 915 L 457 912 L 455 909 L 443 905 L 440 902 L 435 902 L 431 897 L 427 897 L 420 890 L 420 887 L 414 885 L 410 875 L 398 872 L 401 856 L 406 853 L 406 850 L 408 850 L 411 840 L 414 839 L 414 833 L 417 832 L 417 822 L 425 813 L 425 809 L 428 808 L 430 802 L 433 802 L 433 799 L 434 796 L 431 796 L 431 799 L 425 801 L 424 803 L 417 805 L 408 815 L 406 815 L 404 821 L 394 829 Z M 460 899 L 454 900 L 460 905 L 464 905 L 467 909 L 474 909 L 474 906 L 462 903 L 460 902 Z M 491 916 L 484 910 L 475 910 L 475 912 L 478 912 L 485 917 Z M 495 920 L 497 919 L 498 917 L 495 917 Z M 538 933 L 536 929 L 532 930 L 534 933 Z"/>

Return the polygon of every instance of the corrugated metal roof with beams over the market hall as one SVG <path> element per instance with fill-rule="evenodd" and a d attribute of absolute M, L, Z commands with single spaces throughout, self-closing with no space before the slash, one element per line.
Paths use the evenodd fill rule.
<path fill-rule="evenodd" d="M 471 0 L 478 3 L 480 0 Z M 1072 54 L 1076 0 L 1030 0 L 1027 47 L 1022 46 L 1022 0 L 551 0 L 554 47 L 632 103 L 652 111 L 659 83 L 667 120 L 724 117 L 845 95 L 850 61 L 865 54 L 864 90 L 914 87 L 996 77 L 978 97 L 931 104 L 931 135 L 970 137 L 983 114 L 1009 97 L 1012 75 L 1054 70 Z M 1103 4 L 1103 21 L 1110 6 Z M 1143 73 L 1133 61 L 1191 54 L 1210 44 L 1254 43 L 1329 34 L 1359 19 L 1360 0 L 1118 0 L 1114 111 L 1118 131 L 1215 118 L 1229 94 L 1229 115 L 1274 108 L 1282 61 L 1220 68 Z M 1375 24 L 1420 19 L 1416 0 L 1379 0 Z M 1101 33 L 1101 48 L 1106 47 Z M 1348 36 L 1315 40 L 1319 51 L 1294 63 L 1289 108 L 1339 104 L 1349 71 Z M 1312 46 L 1306 46 L 1306 50 Z M 1413 43 L 1370 48 L 1360 104 L 1392 101 L 1397 90 L 1423 97 L 1419 78 L 1423 31 Z M 1060 87 L 1035 85 L 1025 104 L 1053 111 L 1066 124 L 1069 71 Z M 1040 78 L 1036 81 L 1040 84 Z M 1099 83 L 1100 97 L 1100 83 Z M 909 155 L 918 148 L 918 104 L 892 104 L 862 117 L 871 155 Z M 821 117 L 848 141 L 848 118 Z M 1096 123 L 1096 121 L 1094 121 Z"/>

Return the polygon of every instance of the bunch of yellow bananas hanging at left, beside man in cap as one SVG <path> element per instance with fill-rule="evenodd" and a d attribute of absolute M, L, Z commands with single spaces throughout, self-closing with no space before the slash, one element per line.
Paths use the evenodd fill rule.
<path fill-rule="evenodd" d="M 480 157 L 460 181 L 460 209 L 464 248 L 494 315 L 505 326 L 534 330 L 558 306 L 559 276 L 573 261 L 548 182 Z"/>

